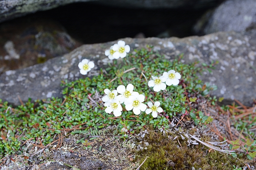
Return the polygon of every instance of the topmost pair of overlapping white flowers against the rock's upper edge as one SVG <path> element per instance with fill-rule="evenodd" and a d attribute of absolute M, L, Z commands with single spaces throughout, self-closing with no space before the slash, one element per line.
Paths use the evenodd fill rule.
<path fill-rule="evenodd" d="M 130 46 L 125 45 L 125 42 L 120 40 L 117 44 L 114 44 L 105 51 L 105 55 L 108 56 L 109 60 L 124 58 L 127 53 L 130 52 Z"/>

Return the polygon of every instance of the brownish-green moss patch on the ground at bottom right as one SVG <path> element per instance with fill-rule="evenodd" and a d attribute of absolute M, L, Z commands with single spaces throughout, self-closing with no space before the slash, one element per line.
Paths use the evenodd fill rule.
<path fill-rule="evenodd" d="M 203 136 L 202 139 L 206 140 L 209 137 Z M 154 130 L 145 136 L 145 140 L 149 143 L 147 149 L 138 151 L 136 157 L 140 159 L 140 163 L 148 157 L 140 167 L 143 170 L 190 170 L 192 167 L 201 170 L 232 169 L 233 165 L 242 167 L 245 162 L 244 159 L 239 160 L 226 153 L 208 152 L 201 144 L 188 147 L 182 139 L 179 139 L 180 146 L 176 140 L 155 133 Z"/>

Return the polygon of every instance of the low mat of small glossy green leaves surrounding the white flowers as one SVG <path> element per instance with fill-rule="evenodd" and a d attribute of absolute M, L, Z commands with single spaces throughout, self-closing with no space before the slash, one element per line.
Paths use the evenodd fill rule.
<path fill-rule="evenodd" d="M 92 78 L 63 81 L 63 99 L 52 97 L 43 101 L 36 100 L 35 103 L 29 99 L 27 103 L 15 109 L 0 100 L 0 135 L 5 138 L 0 140 L 0 157 L 6 154 L 21 154 L 20 145 L 28 139 L 43 145 L 50 144 L 58 134 L 64 134 L 63 129 L 74 127 L 84 129 L 72 133 L 90 133 L 97 136 L 100 131 L 98 129 L 117 125 L 115 133 L 125 140 L 136 130 L 146 126 L 168 128 L 169 118 L 172 116 L 188 116 L 195 112 L 199 114 L 199 117 L 195 118 L 192 113 L 195 123 L 201 125 L 209 122 L 208 118 L 191 108 L 190 102 L 198 103 L 204 95 L 215 89 L 209 84 L 204 85 L 197 77 L 197 74 L 205 69 L 212 69 L 215 63 L 203 66 L 198 63 L 188 65 L 181 63 L 181 58 L 182 55 L 169 61 L 153 52 L 152 47 L 135 50 L 135 54 L 125 57 L 122 64 L 117 64 L 114 60 L 114 65 L 109 65 L 106 69 L 107 74 L 101 69 L 100 74 Z M 134 69 L 131 69 L 131 65 Z M 126 71 L 129 69 L 131 70 Z M 154 92 L 148 87 L 148 80 L 152 75 L 159 77 L 164 71 L 171 69 L 181 74 L 179 85 L 167 86 L 166 90 L 161 92 Z M 116 79 L 111 81 L 114 78 Z M 125 109 L 120 117 L 107 114 L 101 100 L 104 89 L 114 90 L 118 85 L 126 86 L 130 83 L 134 85 L 134 91 L 146 96 L 145 104 L 151 100 L 160 101 L 164 112 L 158 114 L 155 119 L 151 114 L 142 112 L 140 115 L 134 115 L 132 111 Z M 215 102 L 214 98 L 211 100 Z M 88 141 L 85 141 L 84 145 L 86 148 L 90 146 Z"/>

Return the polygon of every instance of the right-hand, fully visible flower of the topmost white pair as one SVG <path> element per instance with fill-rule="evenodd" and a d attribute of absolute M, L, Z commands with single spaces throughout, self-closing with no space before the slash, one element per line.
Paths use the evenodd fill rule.
<path fill-rule="evenodd" d="M 124 41 L 118 41 L 117 44 L 113 45 L 112 48 L 114 51 L 113 53 L 113 57 L 115 59 L 118 59 L 119 57 L 124 58 L 126 56 L 127 53 L 129 53 L 130 51 L 130 46 L 129 45 L 125 45 Z"/>

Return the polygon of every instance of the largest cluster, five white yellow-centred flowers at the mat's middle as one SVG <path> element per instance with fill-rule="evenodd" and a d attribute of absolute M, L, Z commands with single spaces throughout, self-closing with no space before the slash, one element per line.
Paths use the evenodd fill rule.
<path fill-rule="evenodd" d="M 122 115 L 122 103 L 124 103 L 127 111 L 132 110 L 135 115 L 140 115 L 141 111 L 144 112 L 147 109 L 147 105 L 142 103 L 145 100 L 145 96 L 138 92 L 133 92 L 133 89 L 134 86 L 132 84 L 127 85 L 126 88 L 124 85 L 119 85 L 117 89 L 112 92 L 109 89 L 105 89 L 104 92 L 106 96 L 102 98 L 102 101 L 105 102 L 104 106 L 107 107 L 105 112 L 108 114 L 113 112 L 116 117 Z M 119 93 L 118 96 L 117 93 Z M 154 106 L 151 102 L 148 102 L 149 108 L 146 110 L 146 114 L 152 112 L 152 116 L 156 117 L 157 112 L 163 112 L 163 109 L 159 106 L 159 101 L 157 101 Z"/>

